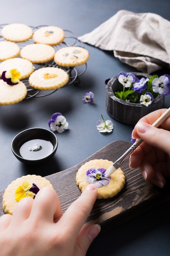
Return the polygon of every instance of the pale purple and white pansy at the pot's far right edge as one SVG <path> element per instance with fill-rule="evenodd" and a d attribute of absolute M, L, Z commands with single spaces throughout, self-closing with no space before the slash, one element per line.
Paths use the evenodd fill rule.
<path fill-rule="evenodd" d="M 164 96 L 170 95 L 170 76 L 164 75 L 152 81 L 153 92 L 159 92 Z"/>

